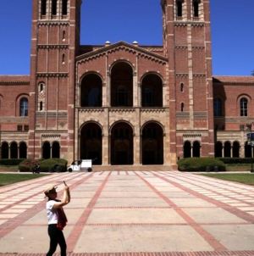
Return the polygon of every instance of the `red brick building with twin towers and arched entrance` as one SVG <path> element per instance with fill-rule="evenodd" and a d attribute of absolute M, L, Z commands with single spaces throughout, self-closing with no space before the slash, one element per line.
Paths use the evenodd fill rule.
<path fill-rule="evenodd" d="M 81 2 L 32 1 L 30 75 L 0 75 L 2 159 L 250 156 L 254 77 L 213 77 L 209 0 L 162 0 L 162 46 L 80 45 Z"/>

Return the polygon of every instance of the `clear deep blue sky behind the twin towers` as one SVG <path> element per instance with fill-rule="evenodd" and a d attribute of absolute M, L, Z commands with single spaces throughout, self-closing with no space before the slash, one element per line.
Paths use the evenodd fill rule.
<path fill-rule="evenodd" d="M 0 75 L 30 74 L 31 2 L 1 1 Z M 254 0 L 210 4 L 213 75 L 251 75 Z M 106 41 L 162 45 L 160 0 L 83 0 L 80 43 Z"/>

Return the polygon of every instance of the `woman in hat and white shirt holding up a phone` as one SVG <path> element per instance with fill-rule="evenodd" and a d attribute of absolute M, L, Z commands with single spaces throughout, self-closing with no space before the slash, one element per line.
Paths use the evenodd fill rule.
<path fill-rule="evenodd" d="M 48 198 L 46 203 L 48 228 L 47 233 L 50 237 L 49 251 L 47 256 L 52 256 L 59 244 L 61 248 L 61 256 L 66 256 L 66 242 L 63 236 L 63 228 L 67 223 L 66 215 L 63 211 L 63 206 L 70 202 L 69 186 L 64 187 L 63 199 L 57 199 L 57 187 L 49 186 L 45 191 L 45 196 Z"/>

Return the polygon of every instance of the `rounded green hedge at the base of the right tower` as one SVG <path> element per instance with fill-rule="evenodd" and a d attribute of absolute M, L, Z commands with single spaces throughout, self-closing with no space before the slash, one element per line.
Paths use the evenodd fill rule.
<path fill-rule="evenodd" d="M 225 171 L 225 164 L 219 159 L 213 158 L 188 158 L 179 159 L 177 162 L 180 171 Z M 215 167 L 215 168 L 214 168 Z"/>

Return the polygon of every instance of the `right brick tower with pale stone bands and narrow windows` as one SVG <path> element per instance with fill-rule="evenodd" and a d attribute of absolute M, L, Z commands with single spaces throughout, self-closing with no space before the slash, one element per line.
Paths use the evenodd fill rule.
<path fill-rule="evenodd" d="M 162 0 L 161 5 L 163 51 L 168 57 L 170 153 L 176 161 L 199 157 L 193 148 L 199 142 L 200 156 L 213 157 L 210 0 Z M 185 155 L 185 142 L 191 142 L 191 156 Z"/>

